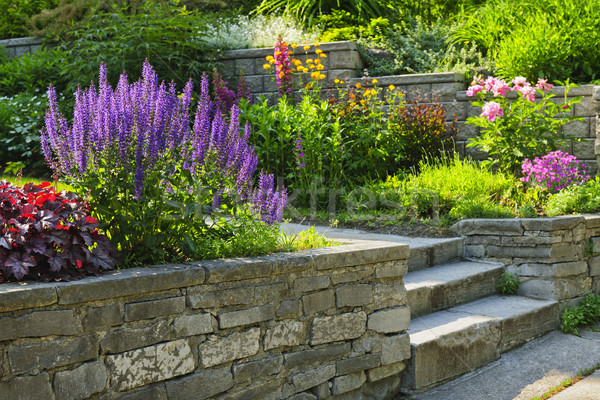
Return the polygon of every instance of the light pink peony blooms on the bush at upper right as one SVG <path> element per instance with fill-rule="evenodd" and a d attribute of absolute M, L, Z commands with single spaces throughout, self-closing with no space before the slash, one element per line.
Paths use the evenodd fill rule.
<path fill-rule="evenodd" d="M 535 101 L 536 90 L 552 90 L 553 86 L 547 83 L 547 79 L 538 79 L 538 83 L 534 86 L 527 82 L 527 79 L 522 76 L 517 76 L 512 80 L 513 87 L 508 85 L 504 79 L 494 78 L 488 76 L 487 79 L 483 79 L 481 76 L 473 78 L 471 86 L 467 89 L 467 96 L 475 96 L 476 93 L 481 92 L 482 94 L 492 93 L 495 97 L 506 96 L 511 91 L 518 92 L 521 94 L 523 99 L 531 102 Z M 482 117 L 487 117 L 488 121 L 493 122 L 497 117 L 502 117 L 501 105 L 497 102 L 488 102 L 483 106 Z"/>

